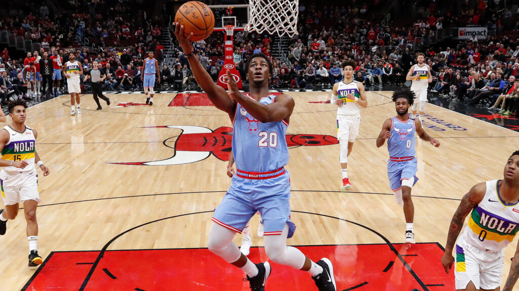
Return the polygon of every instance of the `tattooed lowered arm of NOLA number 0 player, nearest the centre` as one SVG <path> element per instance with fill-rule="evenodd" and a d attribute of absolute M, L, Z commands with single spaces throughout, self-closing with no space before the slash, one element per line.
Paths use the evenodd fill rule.
<path fill-rule="evenodd" d="M 478 205 L 483 197 L 485 197 L 486 183 L 474 185 L 469 193 L 465 194 L 459 203 L 458 209 L 454 213 L 452 221 L 450 221 L 449 232 L 447 234 L 447 243 L 445 244 L 445 253 L 442 257 L 442 265 L 448 274 L 450 268 L 454 264 L 453 250 L 454 244 L 458 239 L 459 232 L 465 222 L 465 217 L 469 215 L 476 205 Z"/>

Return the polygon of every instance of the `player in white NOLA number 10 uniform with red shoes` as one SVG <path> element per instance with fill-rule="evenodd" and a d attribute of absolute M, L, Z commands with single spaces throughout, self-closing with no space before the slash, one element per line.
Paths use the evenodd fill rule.
<path fill-rule="evenodd" d="M 331 103 L 337 108 L 337 139 L 340 145 L 340 170 L 343 175 L 343 188 L 351 187 L 348 179 L 348 156 L 353 143 L 359 135 L 360 108 L 367 107 L 364 85 L 353 80 L 357 63 L 348 60 L 343 63 L 344 80 L 333 85 Z"/>

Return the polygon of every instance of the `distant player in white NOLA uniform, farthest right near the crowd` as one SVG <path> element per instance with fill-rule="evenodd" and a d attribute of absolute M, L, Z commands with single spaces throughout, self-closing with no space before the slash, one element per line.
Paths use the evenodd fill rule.
<path fill-rule="evenodd" d="M 432 76 L 431 68 L 429 68 L 429 66 L 425 63 L 424 53 L 418 53 L 416 55 L 416 61 L 418 64 L 413 65 L 411 69 L 409 69 L 405 79 L 407 81 L 411 81 L 411 91 L 413 91 L 416 98 L 418 98 L 418 100 L 415 100 L 413 107 L 411 107 L 411 110 L 413 111 L 413 117 L 416 117 L 416 109 L 419 105 L 420 108 L 418 118 L 420 121 L 423 121 L 425 103 L 427 102 L 427 88 L 429 87 L 429 83 L 432 82 Z"/>

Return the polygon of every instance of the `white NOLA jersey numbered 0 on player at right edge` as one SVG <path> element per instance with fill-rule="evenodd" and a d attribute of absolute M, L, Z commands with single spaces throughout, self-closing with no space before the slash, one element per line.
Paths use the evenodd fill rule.
<path fill-rule="evenodd" d="M 466 242 L 494 252 L 506 248 L 519 231 L 519 202 L 503 202 L 499 181 L 486 182 L 485 197 L 472 209 L 469 225 L 462 234 Z"/>

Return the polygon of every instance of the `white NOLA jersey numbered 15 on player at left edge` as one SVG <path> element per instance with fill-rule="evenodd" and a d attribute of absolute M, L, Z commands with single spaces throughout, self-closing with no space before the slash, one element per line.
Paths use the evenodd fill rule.
<path fill-rule="evenodd" d="M 23 132 L 17 132 L 9 125 L 4 127 L 9 133 L 9 142 L 7 142 L 2 150 L 2 158 L 7 161 L 25 161 L 29 165 L 23 169 L 17 167 L 3 167 L 2 171 L 6 172 L 25 172 L 34 171 L 34 152 L 36 151 L 36 138 L 32 129 L 25 126 Z"/>

